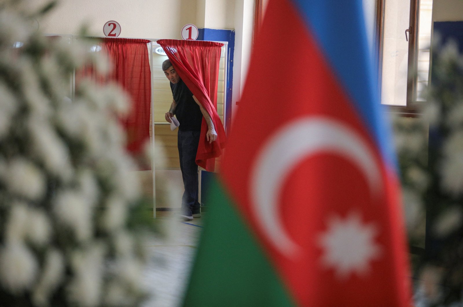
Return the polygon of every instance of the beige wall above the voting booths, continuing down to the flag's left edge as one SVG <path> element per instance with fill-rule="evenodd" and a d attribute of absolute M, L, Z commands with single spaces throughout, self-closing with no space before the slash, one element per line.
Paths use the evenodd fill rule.
<path fill-rule="evenodd" d="M 31 1 L 41 7 L 49 0 Z M 233 105 L 240 99 L 248 70 L 255 0 L 61 0 L 40 29 L 49 34 L 78 35 L 88 25 L 90 35 L 104 36 L 103 25 L 109 20 L 121 26 L 120 37 L 181 39 L 181 28 L 194 24 L 198 28 L 234 29 L 236 31 L 233 62 Z"/>

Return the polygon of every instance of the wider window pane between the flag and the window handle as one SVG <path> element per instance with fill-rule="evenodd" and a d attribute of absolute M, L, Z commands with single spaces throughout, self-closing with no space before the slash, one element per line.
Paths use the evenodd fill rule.
<path fill-rule="evenodd" d="M 388 0 L 384 7 L 381 73 L 381 102 L 407 105 L 408 42 L 410 0 Z"/>

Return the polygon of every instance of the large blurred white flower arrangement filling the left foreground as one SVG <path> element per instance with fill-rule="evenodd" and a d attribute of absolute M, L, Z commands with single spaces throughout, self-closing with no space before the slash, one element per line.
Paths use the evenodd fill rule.
<path fill-rule="evenodd" d="M 0 2 L 0 305 L 137 306 L 152 220 L 117 120 L 125 94 L 89 82 L 71 101 L 75 68 L 107 60 L 30 26 L 52 5 L 18 2 Z"/>

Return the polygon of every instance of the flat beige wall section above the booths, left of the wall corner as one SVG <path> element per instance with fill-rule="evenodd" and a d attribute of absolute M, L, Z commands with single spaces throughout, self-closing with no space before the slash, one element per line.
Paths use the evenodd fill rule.
<path fill-rule="evenodd" d="M 33 5 L 47 2 L 36 0 Z M 73 35 L 87 24 L 92 35 L 103 36 L 103 25 L 115 20 L 121 37 L 178 39 L 182 26 L 195 19 L 196 3 L 191 0 L 62 0 L 39 24 L 45 33 Z"/>

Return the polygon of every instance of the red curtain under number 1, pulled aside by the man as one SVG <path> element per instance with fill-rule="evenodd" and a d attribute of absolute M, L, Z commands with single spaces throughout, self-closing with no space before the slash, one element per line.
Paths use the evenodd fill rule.
<path fill-rule="evenodd" d="M 211 115 L 217 140 L 211 144 L 207 141 L 208 127 L 203 118 L 196 164 L 213 172 L 214 158 L 219 157 L 225 147 L 225 130 L 217 114 L 220 48 L 224 44 L 175 39 L 162 39 L 157 43 L 163 47 L 181 80 Z"/>

